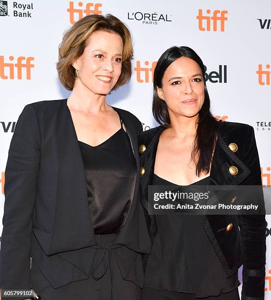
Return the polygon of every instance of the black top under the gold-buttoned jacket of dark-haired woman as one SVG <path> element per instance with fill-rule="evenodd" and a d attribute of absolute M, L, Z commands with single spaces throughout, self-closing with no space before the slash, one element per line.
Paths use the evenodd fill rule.
<path fill-rule="evenodd" d="M 211 177 L 193 185 L 209 185 Z M 153 185 L 174 185 L 153 176 Z M 179 187 L 179 186 L 178 186 Z M 156 215 L 157 234 L 148 258 L 145 285 L 154 289 L 218 296 L 238 287 L 238 274 L 227 278 L 221 262 L 203 228 L 202 215 Z M 175 298 L 174 298 L 175 299 Z"/>

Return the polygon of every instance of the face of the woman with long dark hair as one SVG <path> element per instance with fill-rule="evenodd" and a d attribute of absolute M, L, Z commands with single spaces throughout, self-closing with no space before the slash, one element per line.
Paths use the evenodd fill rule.
<path fill-rule="evenodd" d="M 165 71 L 162 88 L 157 87 L 160 99 L 165 100 L 170 117 L 197 116 L 204 102 L 204 83 L 199 65 L 191 58 L 176 59 Z"/>

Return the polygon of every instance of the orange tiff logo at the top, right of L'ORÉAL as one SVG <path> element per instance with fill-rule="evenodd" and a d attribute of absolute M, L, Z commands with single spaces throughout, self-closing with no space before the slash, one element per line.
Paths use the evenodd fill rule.
<path fill-rule="evenodd" d="M 211 14 L 211 10 L 207 9 L 206 13 L 209 15 Z M 212 16 L 203 16 L 202 15 L 202 9 L 198 10 L 198 29 L 200 31 L 211 31 L 211 20 L 213 21 L 213 31 L 218 30 L 218 23 L 220 22 L 220 30 L 224 31 L 225 30 L 225 21 L 228 20 L 225 15 L 228 13 L 227 10 L 214 10 Z M 203 27 L 203 20 L 206 21 L 204 22 L 206 27 Z"/>

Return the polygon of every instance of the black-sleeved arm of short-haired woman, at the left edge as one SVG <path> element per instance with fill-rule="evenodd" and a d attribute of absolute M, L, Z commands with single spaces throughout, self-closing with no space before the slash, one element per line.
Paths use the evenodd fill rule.
<path fill-rule="evenodd" d="M 32 218 L 41 144 L 35 108 L 33 105 L 25 106 L 17 122 L 8 153 L 0 249 L 2 290 L 30 290 Z"/>

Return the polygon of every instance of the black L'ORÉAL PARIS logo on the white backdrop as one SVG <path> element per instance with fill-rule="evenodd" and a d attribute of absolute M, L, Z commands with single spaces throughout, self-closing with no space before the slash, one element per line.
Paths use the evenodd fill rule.
<path fill-rule="evenodd" d="M 141 11 L 137 12 L 128 12 L 127 19 L 140 21 L 144 25 L 158 25 L 162 22 L 172 22 L 172 15 L 160 14 L 160 13 L 145 13 Z"/>

